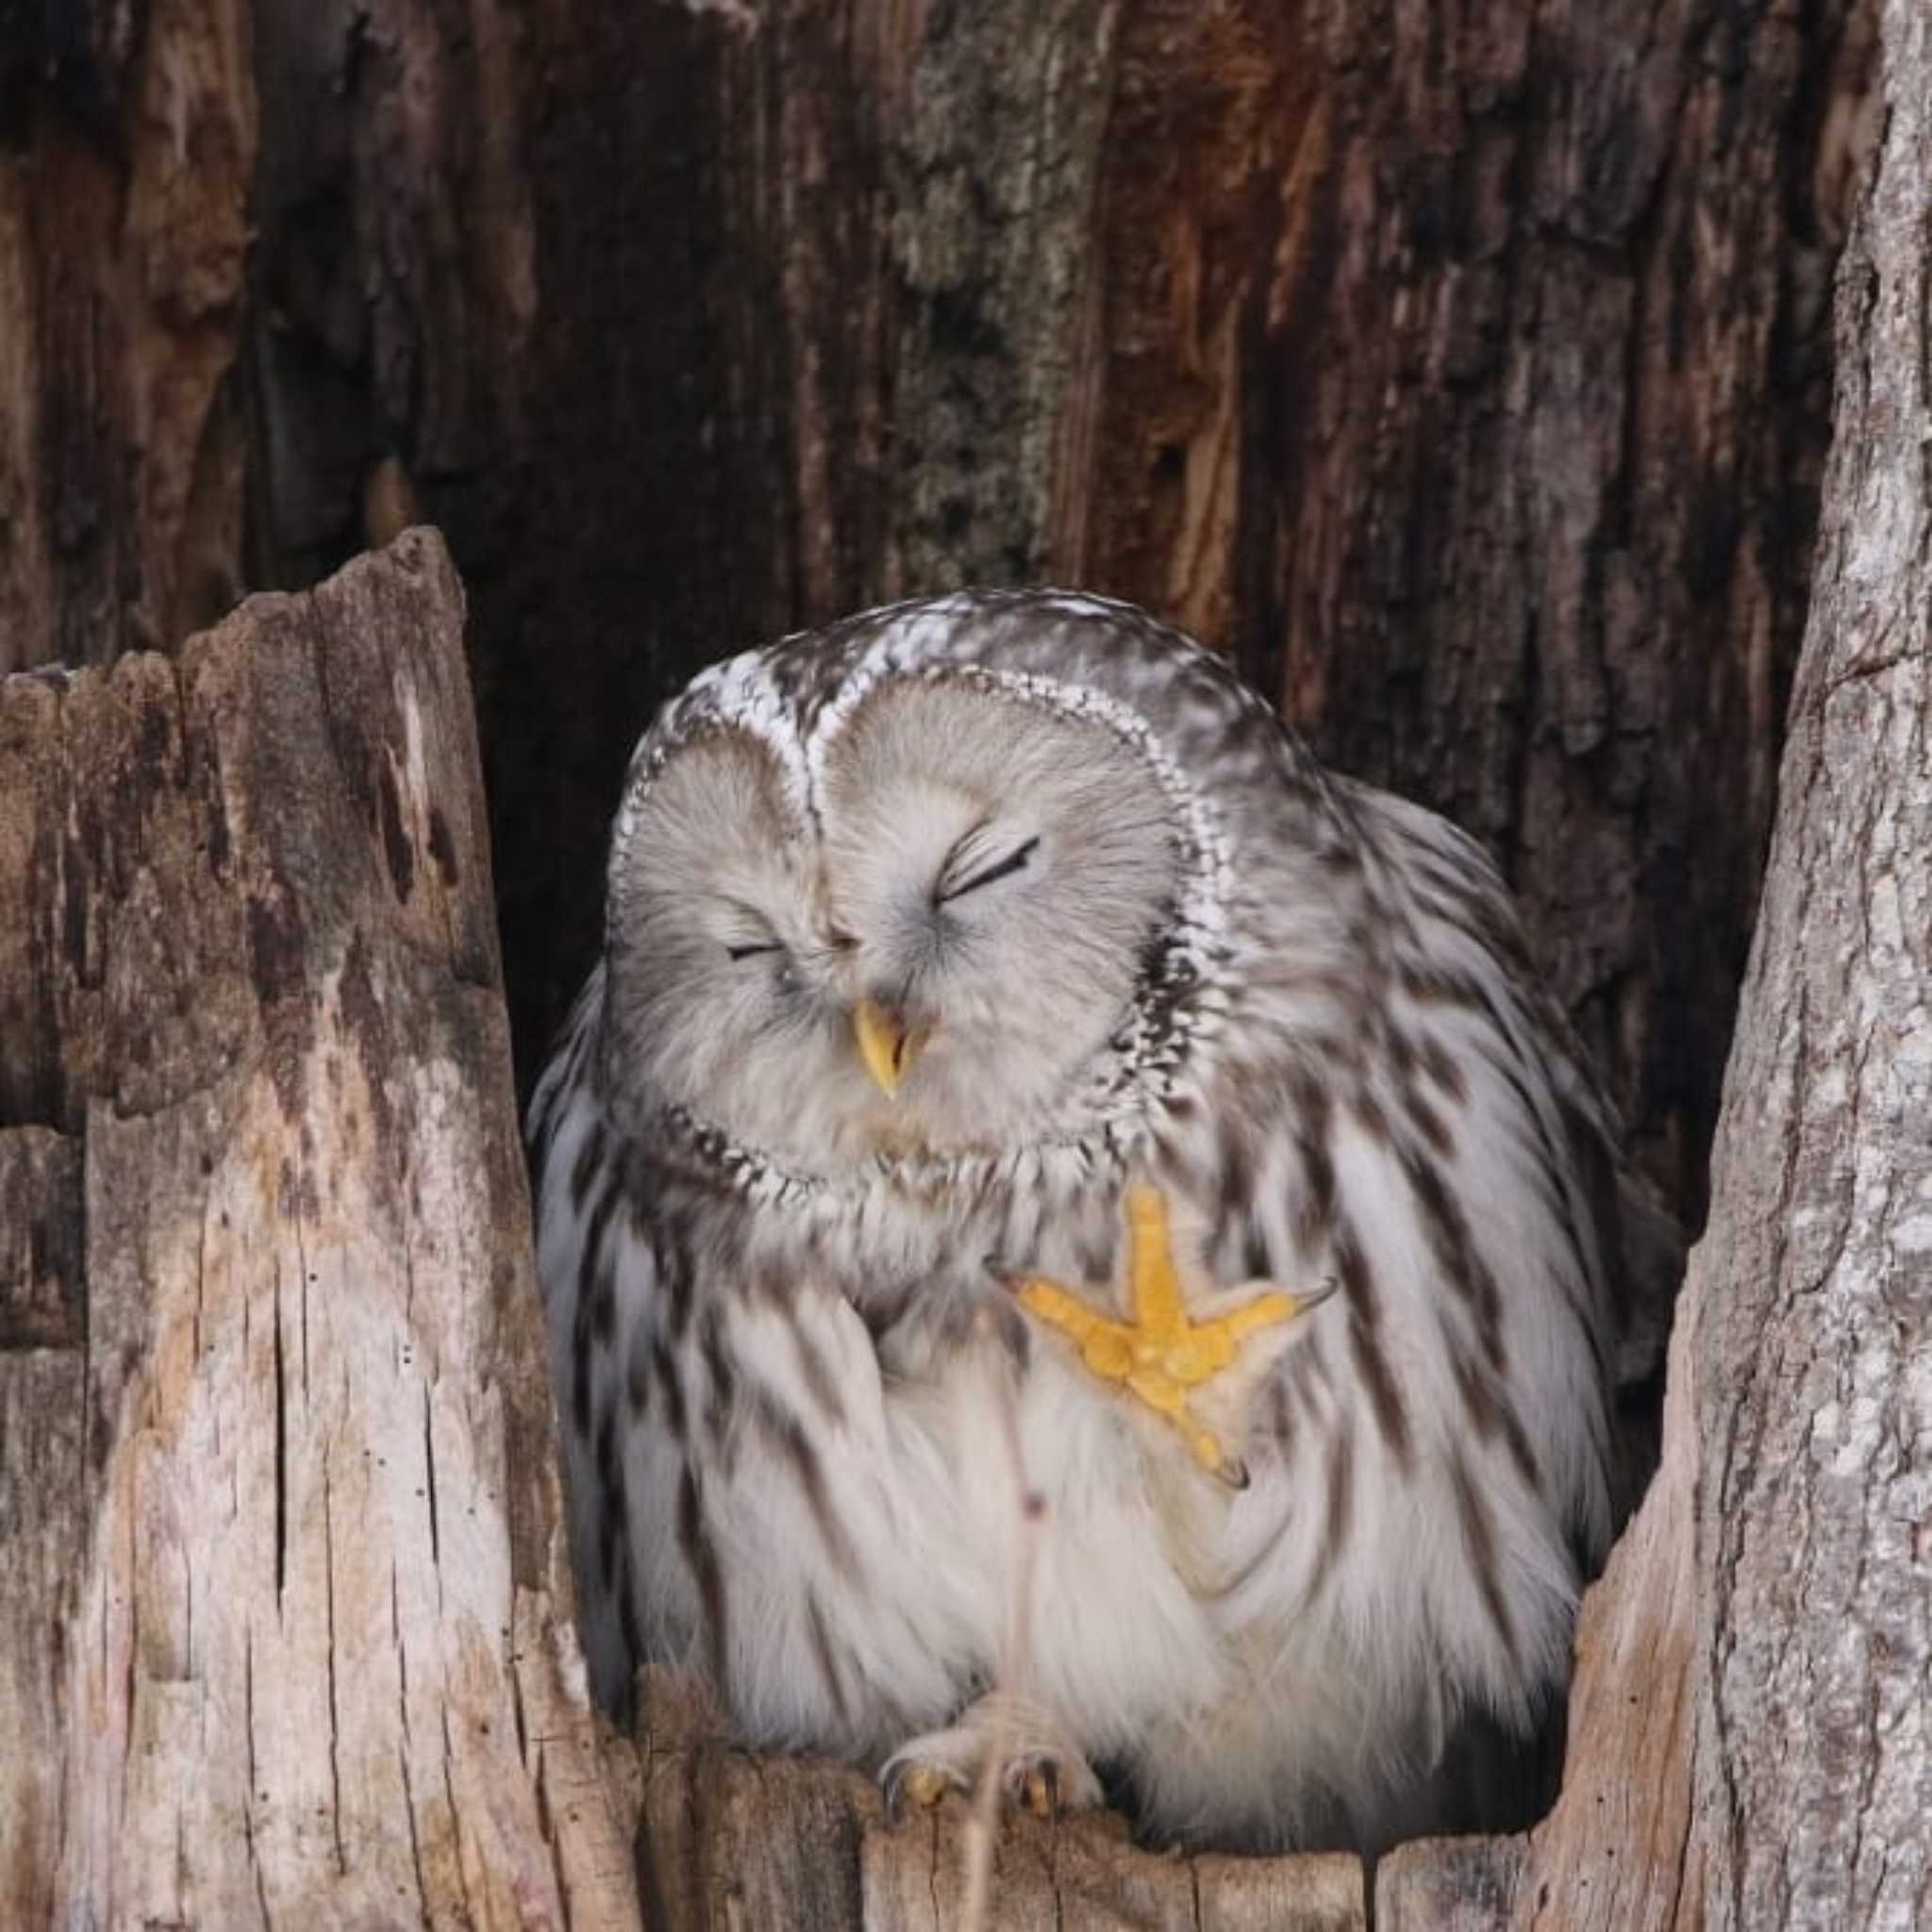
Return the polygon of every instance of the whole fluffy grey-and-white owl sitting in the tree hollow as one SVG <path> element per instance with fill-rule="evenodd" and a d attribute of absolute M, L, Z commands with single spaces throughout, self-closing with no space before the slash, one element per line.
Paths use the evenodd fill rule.
<path fill-rule="evenodd" d="M 1248 1849 L 1482 1824 L 1561 1710 L 1615 1121 L 1482 850 L 1144 612 L 696 678 L 529 1142 L 605 1704 L 929 1801 L 1018 1617 L 1014 1793 Z"/>

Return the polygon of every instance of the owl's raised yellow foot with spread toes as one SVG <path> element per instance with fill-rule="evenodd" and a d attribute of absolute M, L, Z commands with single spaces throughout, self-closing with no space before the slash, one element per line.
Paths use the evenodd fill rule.
<path fill-rule="evenodd" d="M 1281 1327 L 1335 1293 L 1323 1283 L 1312 1294 L 1267 1289 L 1227 1314 L 1188 1320 L 1167 1231 L 1167 1198 L 1134 1182 L 1126 1190 L 1130 1321 L 1094 1308 L 1057 1281 L 1034 1275 L 1010 1279 L 1020 1306 L 1068 1335 L 1080 1360 L 1101 1381 L 1124 1383 L 1157 1416 L 1171 1422 L 1204 1470 L 1242 1488 L 1248 1472 L 1188 1408 L 1188 1391 L 1235 1364 L 1242 1345 L 1264 1329 Z"/>

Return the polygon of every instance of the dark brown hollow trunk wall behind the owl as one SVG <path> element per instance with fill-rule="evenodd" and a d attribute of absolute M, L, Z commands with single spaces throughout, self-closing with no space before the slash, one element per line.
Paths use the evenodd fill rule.
<path fill-rule="evenodd" d="M 1868 0 L 0 23 L 0 663 L 439 522 L 526 1076 L 667 688 L 1074 578 L 1495 844 L 1696 1213 Z"/>

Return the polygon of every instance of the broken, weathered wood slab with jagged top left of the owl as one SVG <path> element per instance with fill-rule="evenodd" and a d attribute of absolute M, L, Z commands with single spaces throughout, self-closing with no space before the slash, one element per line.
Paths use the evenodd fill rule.
<path fill-rule="evenodd" d="M 0 684 L 8 1922 L 634 1920 L 462 622 L 413 533 Z"/>

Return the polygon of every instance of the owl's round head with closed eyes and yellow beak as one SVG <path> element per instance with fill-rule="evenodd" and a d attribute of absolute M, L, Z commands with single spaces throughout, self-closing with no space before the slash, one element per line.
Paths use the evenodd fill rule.
<path fill-rule="evenodd" d="M 1097 634 L 1122 618 L 1206 661 L 1126 607 L 980 593 L 674 699 L 612 840 L 612 1101 L 831 1179 L 1146 1105 L 1204 980 L 1217 833 L 1132 701 L 1144 657 Z"/>

